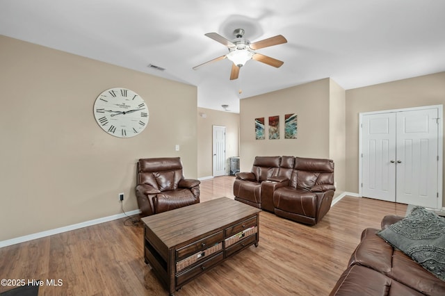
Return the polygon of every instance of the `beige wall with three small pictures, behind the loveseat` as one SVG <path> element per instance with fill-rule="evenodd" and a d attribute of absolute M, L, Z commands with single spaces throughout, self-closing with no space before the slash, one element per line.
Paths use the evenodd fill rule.
<path fill-rule="evenodd" d="M 345 137 L 344 102 L 344 90 L 331 79 L 242 99 L 241 171 L 251 170 L 255 156 L 332 157 L 338 186 L 336 195 L 339 195 L 344 188 L 345 172 L 344 144 L 341 143 Z M 284 139 L 284 115 L 289 113 L 298 114 L 297 139 Z M 280 139 L 268 140 L 268 117 L 274 115 L 280 115 Z M 257 117 L 266 117 L 266 140 L 255 140 Z"/>

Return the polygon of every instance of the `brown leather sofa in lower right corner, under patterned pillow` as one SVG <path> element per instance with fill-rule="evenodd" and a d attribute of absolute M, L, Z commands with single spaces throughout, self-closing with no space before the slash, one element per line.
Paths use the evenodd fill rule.
<path fill-rule="evenodd" d="M 382 229 L 403 217 L 388 215 Z M 341 274 L 330 296 L 355 295 L 445 295 L 445 281 L 438 279 L 419 263 L 391 247 L 368 228 L 350 256 L 348 268 Z"/>

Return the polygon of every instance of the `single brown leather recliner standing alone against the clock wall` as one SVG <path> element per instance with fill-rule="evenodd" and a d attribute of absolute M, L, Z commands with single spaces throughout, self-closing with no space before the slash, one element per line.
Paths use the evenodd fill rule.
<path fill-rule="evenodd" d="M 140 159 L 136 182 L 143 217 L 200 202 L 201 182 L 184 179 L 179 157 Z"/>

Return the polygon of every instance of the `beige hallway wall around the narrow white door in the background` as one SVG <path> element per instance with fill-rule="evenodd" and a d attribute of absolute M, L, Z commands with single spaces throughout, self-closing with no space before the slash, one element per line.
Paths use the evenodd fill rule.
<path fill-rule="evenodd" d="M 197 108 L 197 176 L 213 175 L 213 126 L 225 126 L 226 173 L 229 158 L 239 156 L 239 114 Z"/>

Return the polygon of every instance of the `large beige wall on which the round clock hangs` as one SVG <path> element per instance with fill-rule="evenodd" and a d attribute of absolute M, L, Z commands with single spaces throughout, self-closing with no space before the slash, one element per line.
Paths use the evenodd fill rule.
<path fill-rule="evenodd" d="M 180 156 L 197 177 L 197 89 L 0 36 L 0 241 L 138 208 L 138 158 Z M 92 113 L 108 88 L 134 90 L 149 124 L 115 138 Z M 175 151 L 180 145 L 180 151 Z"/>

